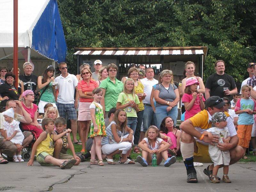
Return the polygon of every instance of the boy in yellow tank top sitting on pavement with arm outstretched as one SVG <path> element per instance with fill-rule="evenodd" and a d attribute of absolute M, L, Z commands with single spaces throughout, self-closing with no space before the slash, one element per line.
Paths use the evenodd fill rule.
<path fill-rule="evenodd" d="M 52 134 L 54 129 L 54 121 L 52 118 L 44 118 L 42 120 L 42 127 L 44 132 L 40 134 L 34 143 L 31 158 L 27 165 L 33 166 L 33 157 L 36 154 L 36 160 L 42 166 L 59 166 L 61 169 L 71 168 L 76 163 L 75 159 L 56 159 L 52 156 L 54 151 L 54 141 L 60 139 L 66 133 L 70 133 L 71 129 L 67 129 L 65 132 L 59 135 Z"/>

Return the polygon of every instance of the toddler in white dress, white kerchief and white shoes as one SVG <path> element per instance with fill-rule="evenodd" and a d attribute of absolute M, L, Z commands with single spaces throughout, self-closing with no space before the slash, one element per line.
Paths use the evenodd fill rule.
<path fill-rule="evenodd" d="M 4 115 L 4 130 L 6 130 L 5 140 L 11 141 L 14 144 L 22 145 L 24 140 L 24 135 L 22 134 L 19 124 L 20 122 L 13 120 L 14 111 L 12 108 L 3 112 Z M 23 162 L 24 160 L 21 158 L 21 151 L 18 153 L 15 152 L 13 154 L 13 162 Z"/>

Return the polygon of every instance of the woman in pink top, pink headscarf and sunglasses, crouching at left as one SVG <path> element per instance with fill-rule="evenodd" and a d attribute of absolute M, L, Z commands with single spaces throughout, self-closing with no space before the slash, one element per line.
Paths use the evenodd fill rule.
<path fill-rule="evenodd" d="M 30 114 L 31 119 L 33 120 L 30 124 L 22 124 L 22 129 L 24 131 L 34 132 L 36 138 L 43 132 L 41 125 L 37 122 L 37 105 L 34 104 L 35 95 L 31 90 L 26 90 L 21 95 L 21 104 L 23 108 Z"/>

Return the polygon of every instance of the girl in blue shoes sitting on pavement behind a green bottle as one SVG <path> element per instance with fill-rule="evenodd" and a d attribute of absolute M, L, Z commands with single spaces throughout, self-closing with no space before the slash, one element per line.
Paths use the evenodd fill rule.
<path fill-rule="evenodd" d="M 145 133 L 145 138 L 139 143 L 139 147 L 142 149 L 142 157 L 137 156 L 137 162 L 143 167 L 147 167 L 152 162 L 152 155 L 156 153 L 156 164 L 159 165 L 163 158 L 165 160 L 164 166 L 169 167 L 176 162 L 176 156 L 168 158 L 167 149 L 170 144 L 161 139 L 161 135 L 156 126 L 148 127 Z"/>

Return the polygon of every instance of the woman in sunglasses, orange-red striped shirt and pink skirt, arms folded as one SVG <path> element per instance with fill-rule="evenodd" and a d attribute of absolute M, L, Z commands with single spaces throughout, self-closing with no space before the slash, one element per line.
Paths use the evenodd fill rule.
<path fill-rule="evenodd" d="M 99 84 L 97 81 L 91 79 L 92 72 L 90 69 L 83 68 L 80 74 L 82 80 L 77 84 L 77 91 L 80 97 L 77 121 L 80 126 L 80 139 L 82 141 L 81 152 L 84 153 L 85 143 L 90 129 L 91 114 L 89 106 L 93 101 L 92 90 L 99 87 Z"/>

